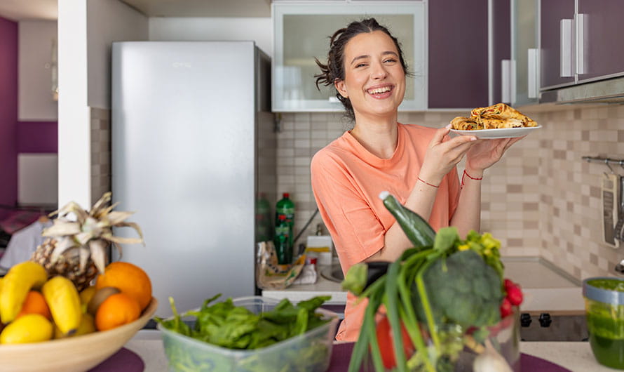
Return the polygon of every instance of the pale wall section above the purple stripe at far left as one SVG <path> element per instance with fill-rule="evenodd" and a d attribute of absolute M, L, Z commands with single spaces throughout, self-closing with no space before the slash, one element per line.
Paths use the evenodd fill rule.
<path fill-rule="evenodd" d="M 18 120 L 56 121 L 58 105 L 52 95 L 52 46 L 56 21 L 18 23 Z"/>

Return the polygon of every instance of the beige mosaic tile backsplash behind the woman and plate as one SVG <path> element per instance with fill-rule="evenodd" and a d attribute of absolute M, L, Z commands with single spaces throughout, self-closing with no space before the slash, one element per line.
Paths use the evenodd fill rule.
<path fill-rule="evenodd" d="M 623 159 L 624 106 L 524 112 L 543 128 L 517 142 L 484 174 L 482 231 L 501 240 L 503 255 L 541 256 L 578 279 L 611 272 L 624 250 L 601 243 L 599 178 L 608 169 L 581 157 Z M 466 114 L 401 113 L 399 121 L 439 128 Z M 350 127 L 341 113 L 281 115 L 277 191 L 292 195 L 297 232 L 316 210 L 309 172 L 313 154 Z M 624 174 L 624 168 L 616 171 Z M 320 222 L 316 215 L 302 237 Z"/>

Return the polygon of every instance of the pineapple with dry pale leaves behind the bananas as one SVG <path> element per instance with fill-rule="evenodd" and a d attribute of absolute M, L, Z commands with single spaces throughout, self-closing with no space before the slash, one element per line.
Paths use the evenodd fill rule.
<path fill-rule="evenodd" d="M 90 211 L 83 210 L 74 201 L 50 214 L 57 214 L 54 224 L 43 230 L 48 237 L 36 248 L 31 260 L 48 271 L 48 277 L 62 275 L 82 291 L 90 285 L 107 265 L 107 248 L 113 244 L 121 255 L 119 244 L 143 243 L 143 234 L 135 222 L 126 222 L 133 212 L 112 211 L 117 203 L 106 206 L 111 193 L 102 195 Z M 76 220 L 69 220 L 73 213 Z M 133 227 L 140 238 L 115 237 L 113 227 Z"/>

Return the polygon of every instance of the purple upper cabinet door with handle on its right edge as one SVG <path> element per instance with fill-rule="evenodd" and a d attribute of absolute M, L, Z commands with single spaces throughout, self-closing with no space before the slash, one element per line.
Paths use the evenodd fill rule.
<path fill-rule="evenodd" d="M 574 35 L 574 27 L 571 27 L 574 25 L 574 0 L 542 0 L 540 13 L 540 86 L 548 89 L 552 86 L 574 84 L 575 65 L 571 55 L 575 48 L 573 40 L 567 37 Z M 566 31 L 562 32 L 562 28 Z M 562 47 L 567 52 L 564 54 L 570 55 L 570 58 L 562 58 Z M 565 70 L 563 76 L 562 69 Z"/>

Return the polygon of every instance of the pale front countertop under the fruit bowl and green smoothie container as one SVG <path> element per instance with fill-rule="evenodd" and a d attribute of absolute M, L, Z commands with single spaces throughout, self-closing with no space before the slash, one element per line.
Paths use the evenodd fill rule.
<path fill-rule="evenodd" d="M 137 353 L 143 359 L 145 364 L 144 371 L 168 371 L 167 358 L 165 357 L 160 331 L 139 331 L 126 343 L 125 347 Z M 598 364 L 596 359 L 594 359 L 589 343 L 586 342 L 521 342 L 520 351 L 524 354 L 559 364 L 559 366 L 568 368 L 573 372 L 618 371 Z"/>

